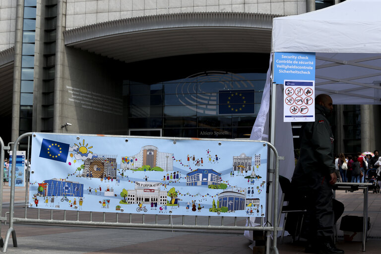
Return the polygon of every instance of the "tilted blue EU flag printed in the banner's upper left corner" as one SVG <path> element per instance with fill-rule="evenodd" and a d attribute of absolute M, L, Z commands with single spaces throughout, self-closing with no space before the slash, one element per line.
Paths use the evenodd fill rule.
<path fill-rule="evenodd" d="M 49 139 L 42 139 L 40 157 L 55 161 L 66 162 L 69 144 Z"/>

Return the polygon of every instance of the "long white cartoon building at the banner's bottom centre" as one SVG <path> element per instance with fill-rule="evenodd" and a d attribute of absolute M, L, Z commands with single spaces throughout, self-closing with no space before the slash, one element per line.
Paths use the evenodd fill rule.
<path fill-rule="evenodd" d="M 127 190 L 128 204 L 150 204 L 157 202 L 158 205 L 167 203 L 167 191 L 160 190 L 159 182 L 135 182 L 134 190 Z"/>

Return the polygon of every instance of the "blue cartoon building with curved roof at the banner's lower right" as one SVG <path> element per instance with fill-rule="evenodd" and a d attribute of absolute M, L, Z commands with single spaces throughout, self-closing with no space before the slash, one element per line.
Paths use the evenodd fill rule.
<path fill-rule="evenodd" d="M 229 211 L 244 210 L 246 208 L 246 192 L 241 193 L 233 189 L 218 194 L 219 206 L 228 207 Z"/>

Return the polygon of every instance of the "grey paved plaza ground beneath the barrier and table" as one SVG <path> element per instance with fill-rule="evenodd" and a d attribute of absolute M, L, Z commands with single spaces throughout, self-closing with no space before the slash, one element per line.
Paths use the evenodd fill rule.
<path fill-rule="evenodd" d="M 3 188 L 2 216 L 9 212 L 10 188 Z M 345 205 L 343 215 L 362 216 L 363 192 L 336 191 L 336 199 Z M 366 243 L 367 254 L 381 253 L 381 194 L 369 191 L 369 217 L 371 228 L 368 231 Z M 25 216 L 25 188 L 16 187 L 14 217 Z M 51 210 L 27 208 L 27 218 L 50 219 Z M 63 211 L 54 211 L 53 218 L 62 220 Z M 89 221 L 90 212 L 80 212 L 79 220 Z M 116 221 L 115 213 L 92 213 L 93 221 Z M 182 216 L 173 216 L 173 224 L 181 224 Z M 208 217 L 186 216 L 186 224 L 208 223 Z M 9 218 L 9 216 L 8 216 Z M 66 220 L 76 220 L 75 211 L 65 213 Z M 169 224 L 168 215 L 142 216 L 139 214 L 120 214 L 119 222 L 157 223 Z M 220 218 L 211 217 L 211 224 L 221 223 Z M 237 218 L 237 225 L 244 225 L 246 218 Z M 234 218 L 225 217 L 224 225 L 234 225 Z M 337 223 L 338 228 L 340 220 Z M 172 229 L 147 229 L 126 227 L 95 227 L 72 225 L 46 225 L 15 223 L 17 247 L 13 247 L 12 239 L 9 240 L 7 253 L 17 254 L 252 254 L 249 248 L 250 241 L 243 236 L 243 231 L 227 230 L 172 230 Z M 5 238 L 8 223 L 1 223 L 1 237 Z M 292 243 L 290 236 L 285 237 L 277 248 L 280 254 L 304 253 L 303 241 Z M 345 254 L 360 254 L 361 242 L 345 242 L 343 231 L 338 230 L 337 248 Z"/>

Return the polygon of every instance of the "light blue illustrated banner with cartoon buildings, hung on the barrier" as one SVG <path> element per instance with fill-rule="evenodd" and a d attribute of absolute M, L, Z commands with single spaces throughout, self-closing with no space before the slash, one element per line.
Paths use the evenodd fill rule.
<path fill-rule="evenodd" d="M 145 214 L 265 214 L 267 145 L 34 133 L 29 206 Z"/>

